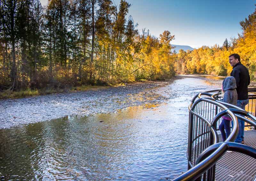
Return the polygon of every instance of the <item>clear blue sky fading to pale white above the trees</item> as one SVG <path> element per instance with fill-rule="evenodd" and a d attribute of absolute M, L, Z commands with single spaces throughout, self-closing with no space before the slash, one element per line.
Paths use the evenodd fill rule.
<path fill-rule="evenodd" d="M 175 35 L 172 44 L 222 45 L 226 38 L 242 33 L 239 22 L 254 12 L 256 0 L 126 0 L 129 15 L 138 29 L 159 37 L 164 30 Z M 119 0 L 114 0 L 119 4 Z M 47 0 L 41 0 L 42 5 Z"/>

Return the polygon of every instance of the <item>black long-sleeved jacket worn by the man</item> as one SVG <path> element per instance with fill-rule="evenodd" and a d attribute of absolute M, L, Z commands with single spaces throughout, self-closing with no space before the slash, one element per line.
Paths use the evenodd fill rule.
<path fill-rule="evenodd" d="M 234 67 L 230 76 L 236 79 L 236 92 L 238 100 L 248 99 L 248 85 L 250 84 L 250 75 L 248 69 L 238 62 Z"/>

